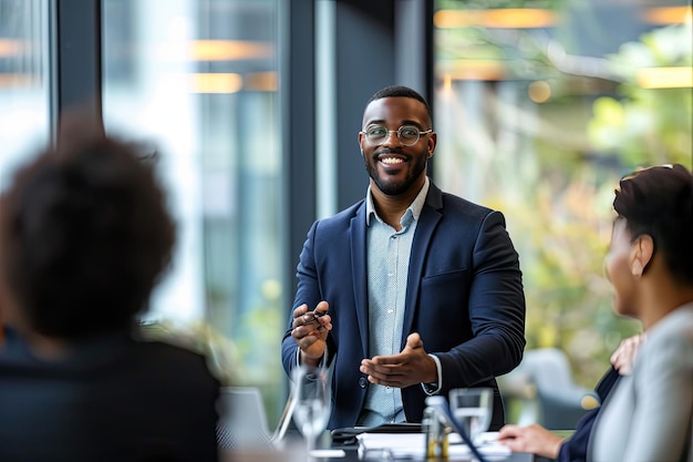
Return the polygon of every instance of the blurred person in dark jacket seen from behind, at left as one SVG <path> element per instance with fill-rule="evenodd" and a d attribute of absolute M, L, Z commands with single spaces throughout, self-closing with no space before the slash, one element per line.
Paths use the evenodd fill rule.
<path fill-rule="evenodd" d="M 218 381 L 142 341 L 175 229 L 153 168 L 83 126 L 0 202 L 0 461 L 216 461 Z"/>

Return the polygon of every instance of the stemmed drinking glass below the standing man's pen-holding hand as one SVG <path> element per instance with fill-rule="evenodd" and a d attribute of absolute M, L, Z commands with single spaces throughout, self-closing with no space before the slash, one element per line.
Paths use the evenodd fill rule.
<path fill-rule="evenodd" d="M 331 399 L 328 370 L 321 367 L 299 366 L 293 369 L 293 421 L 306 439 L 309 458 L 318 437 L 328 427 Z"/>

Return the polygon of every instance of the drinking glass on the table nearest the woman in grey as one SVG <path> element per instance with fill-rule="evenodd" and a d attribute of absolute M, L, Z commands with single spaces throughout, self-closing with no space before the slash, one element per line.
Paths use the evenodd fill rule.
<path fill-rule="evenodd" d="M 476 443 L 488 430 L 494 410 L 494 390 L 490 388 L 458 388 L 449 391 L 449 408 L 463 425 L 469 440 Z"/>

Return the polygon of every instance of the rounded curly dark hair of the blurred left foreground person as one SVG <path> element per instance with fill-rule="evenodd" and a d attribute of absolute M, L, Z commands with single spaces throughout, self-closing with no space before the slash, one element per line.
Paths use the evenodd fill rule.
<path fill-rule="evenodd" d="M 29 328 L 75 339 L 133 324 L 169 265 L 175 226 L 133 145 L 63 140 L 3 194 L 0 265 Z"/>

